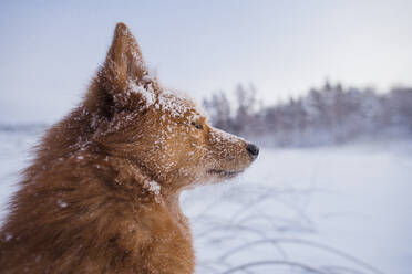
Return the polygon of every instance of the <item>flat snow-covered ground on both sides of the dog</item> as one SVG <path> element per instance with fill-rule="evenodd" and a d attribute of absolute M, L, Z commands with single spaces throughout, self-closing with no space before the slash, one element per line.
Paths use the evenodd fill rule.
<path fill-rule="evenodd" d="M 0 131 L 0 213 L 35 135 Z M 412 146 L 261 149 L 227 183 L 190 190 L 197 273 L 412 268 Z"/>

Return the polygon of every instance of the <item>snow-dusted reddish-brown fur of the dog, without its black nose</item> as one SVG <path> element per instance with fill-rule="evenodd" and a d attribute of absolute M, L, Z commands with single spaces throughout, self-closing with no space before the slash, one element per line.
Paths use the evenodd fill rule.
<path fill-rule="evenodd" d="M 48 130 L 0 232 L 0 273 L 193 273 L 179 192 L 253 161 L 151 77 L 119 23 L 83 103 Z"/>

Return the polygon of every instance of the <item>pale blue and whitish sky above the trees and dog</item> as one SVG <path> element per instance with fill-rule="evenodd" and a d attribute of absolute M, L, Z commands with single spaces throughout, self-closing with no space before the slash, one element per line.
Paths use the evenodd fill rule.
<path fill-rule="evenodd" d="M 1 1 L 0 124 L 53 123 L 81 101 L 116 22 L 164 86 L 196 99 L 253 83 L 265 104 L 328 78 L 412 85 L 412 1 Z"/>

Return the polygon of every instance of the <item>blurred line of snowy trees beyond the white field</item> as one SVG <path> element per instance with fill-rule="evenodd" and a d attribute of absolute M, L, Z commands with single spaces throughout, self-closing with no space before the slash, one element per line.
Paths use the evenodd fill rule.
<path fill-rule="evenodd" d="M 319 146 L 412 138 L 412 88 L 388 93 L 328 81 L 306 95 L 264 105 L 256 88 L 238 85 L 235 99 L 218 92 L 203 105 L 214 126 L 272 146 Z"/>

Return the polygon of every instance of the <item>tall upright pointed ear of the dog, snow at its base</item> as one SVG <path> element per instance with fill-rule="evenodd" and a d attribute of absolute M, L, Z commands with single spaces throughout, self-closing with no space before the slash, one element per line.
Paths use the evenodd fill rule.
<path fill-rule="evenodd" d="M 150 77 L 142 52 L 130 29 L 117 23 L 97 83 L 115 105 L 137 107 L 154 101 L 157 84 Z"/>

